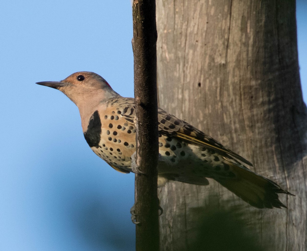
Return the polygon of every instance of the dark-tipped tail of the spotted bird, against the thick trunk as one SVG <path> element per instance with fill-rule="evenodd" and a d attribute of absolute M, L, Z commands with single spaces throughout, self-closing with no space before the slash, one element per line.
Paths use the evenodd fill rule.
<path fill-rule="evenodd" d="M 221 178 L 216 181 L 247 203 L 258 208 L 287 208 L 278 199 L 278 193 L 293 194 L 275 182 L 233 163 L 230 164 L 230 171 L 235 174 L 235 178 Z"/>

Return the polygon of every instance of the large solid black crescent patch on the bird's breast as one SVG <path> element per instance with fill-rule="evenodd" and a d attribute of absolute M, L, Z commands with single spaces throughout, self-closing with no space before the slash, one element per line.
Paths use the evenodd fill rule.
<path fill-rule="evenodd" d="M 90 147 L 95 146 L 98 148 L 100 142 L 100 134 L 101 121 L 98 111 L 95 111 L 88 122 L 87 131 L 84 133 L 84 138 Z"/>

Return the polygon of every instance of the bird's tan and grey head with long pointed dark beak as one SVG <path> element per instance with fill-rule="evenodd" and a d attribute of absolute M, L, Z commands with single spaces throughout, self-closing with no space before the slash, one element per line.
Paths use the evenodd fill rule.
<path fill-rule="evenodd" d="M 119 95 L 103 77 L 89 71 L 75 72 L 59 82 L 45 81 L 37 84 L 60 90 L 79 108 L 89 102 L 102 102 Z"/>

